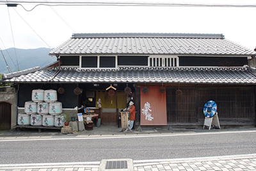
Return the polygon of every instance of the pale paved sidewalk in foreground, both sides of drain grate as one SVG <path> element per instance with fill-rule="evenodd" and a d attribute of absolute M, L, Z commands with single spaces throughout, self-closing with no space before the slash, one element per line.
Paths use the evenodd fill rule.
<path fill-rule="evenodd" d="M 125 159 L 124 159 L 125 160 Z M 0 171 L 97 171 L 100 163 L 68 163 L 68 165 L 0 165 Z M 199 171 L 199 170 L 256 170 L 256 154 L 215 156 L 209 158 L 182 158 L 170 160 L 133 161 L 134 171 Z M 109 169 L 106 169 L 109 170 Z M 127 170 L 127 169 L 110 169 Z"/>

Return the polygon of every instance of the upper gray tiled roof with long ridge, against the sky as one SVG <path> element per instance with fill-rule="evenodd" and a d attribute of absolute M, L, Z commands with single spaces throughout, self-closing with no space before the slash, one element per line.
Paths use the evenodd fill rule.
<path fill-rule="evenodd" d="M 50 55 L 224 55 L 252 56 L 253 50 L 223 34 L 88 33 L 73 34 Z"/>

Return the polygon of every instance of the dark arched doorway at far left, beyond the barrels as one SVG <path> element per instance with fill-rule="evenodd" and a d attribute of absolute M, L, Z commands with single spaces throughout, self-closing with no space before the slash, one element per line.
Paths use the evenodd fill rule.
<path fill-rule="evenodd" d="M 0 130 L 11 129 L 12 105 L 6 102 L 0 102 Z"/>

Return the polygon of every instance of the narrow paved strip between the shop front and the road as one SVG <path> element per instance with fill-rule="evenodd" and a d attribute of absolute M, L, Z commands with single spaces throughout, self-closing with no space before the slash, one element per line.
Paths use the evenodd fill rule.
<path fill-rule="evenodd" d="M 78 131 L 74 133 L 68 133 L 67 135 L 62 134 L 60 130 L 48 130 L 47 128 L 42 129 L 42 131 L 38 131 L 33 126 L 29 129 L 22 129 L 21 131 L 15 130 L 7 130 L 0 131 L 0 140 L 3 138 L 15 138 L 15 137 L 109 137 L 109 136 L 134 136 L 134 135 L 175 135 L 182 133 L 221 133 L 226 131 L 256 131 L 255 127 L 236 127 L 236 128 L 228 128 L 228 129 L 216 129 L 216 130 L 207 130 L 202 128 L 197 129 L 188 129 L 188 128 L 170 128 L 168 126 L 161 127 L 145 127 L 141 128 L 140 131 L 132 131 L 132 132 L 120 132 L 121 128 L 117 126 L 93 126 L 92 131 Z"/>

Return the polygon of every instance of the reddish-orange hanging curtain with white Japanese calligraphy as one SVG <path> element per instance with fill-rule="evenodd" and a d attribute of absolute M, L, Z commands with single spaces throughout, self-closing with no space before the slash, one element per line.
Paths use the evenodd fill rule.
<path fill-rule="evenodd" d="M 148 93 L 140 87 L 141 125 L 167 125 L 166 93 L 160 93 L 162 86 L 147 86 Z"/>

